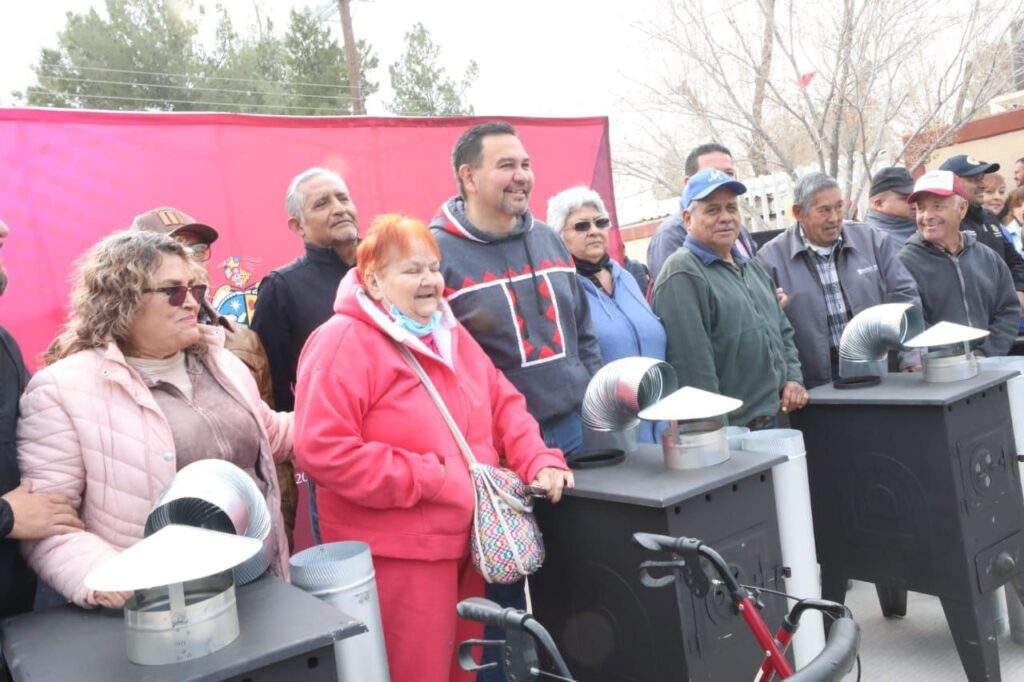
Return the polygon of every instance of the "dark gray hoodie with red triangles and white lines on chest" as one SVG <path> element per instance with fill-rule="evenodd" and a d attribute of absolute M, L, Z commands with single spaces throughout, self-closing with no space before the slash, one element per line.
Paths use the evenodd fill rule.
<path fill-rule="evenodd" d="M 511 232 L 485 232 L 466 217 L 459 197 L 441 207 L 430 230 L 453 312 L 523 394 L 534 419 L 579 410 L 601 351 L 558 235 L 529 211 Z"/>

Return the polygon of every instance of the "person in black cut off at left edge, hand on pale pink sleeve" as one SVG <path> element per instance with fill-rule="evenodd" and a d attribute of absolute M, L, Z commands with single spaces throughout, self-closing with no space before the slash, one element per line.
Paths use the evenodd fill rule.
<path fill-rule="evenodd" d="M 0 221 L 0 248 L 9 230 Z M 0 295 L 7 273 L 0 262 Z M 22 351 L 0 327 L 0 619 L 32 609 L 36 578 L 25 563 L 18 540 L 41 540 L 82 528 L 71 502 L 55 495 L 33 495 L 20 483 L 15 447 L 17 401 L 29 383 Z"/>

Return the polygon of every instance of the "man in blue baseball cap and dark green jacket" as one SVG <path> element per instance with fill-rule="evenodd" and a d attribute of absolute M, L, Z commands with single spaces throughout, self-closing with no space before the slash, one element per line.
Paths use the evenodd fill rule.
<path fill-rule="evenodd" d="M 668 332 L 668 361 L 680 385 L 743 401 L 732 424 L 772 428 L 779 410 L 807 403 L 793 327 L 765 269 L 736 249 L 737 197 L 746 187 L 706 169 L 683 194 L 683 246 L 665 262 L 651 294 Z"/>

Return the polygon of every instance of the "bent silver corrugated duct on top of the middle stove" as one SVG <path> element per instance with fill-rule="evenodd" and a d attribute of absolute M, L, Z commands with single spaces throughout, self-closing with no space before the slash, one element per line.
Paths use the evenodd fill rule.
<path fill-rule="evenodd" d="M 596 431 L 625 431 L 662 396 L 679 388 L 676 372 L 652 357 L 621 357 L 602 367 L 587 385 L 583 421 Z"/>

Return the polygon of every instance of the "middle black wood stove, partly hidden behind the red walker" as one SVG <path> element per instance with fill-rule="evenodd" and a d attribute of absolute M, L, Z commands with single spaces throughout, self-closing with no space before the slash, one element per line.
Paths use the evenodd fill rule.
<path fill-rule="evenodd" d="M 681 583 L 649 589 L 639 566 L 649 552 L 638 530 L 699 538 L 740 582 L 781 590 L 771 467 L 784 457 L 733 452 L 711 467 L 667 469 L 660 447 L 641 445 L 623 464 L 575 472 L 556 507 L 537 506 L 547 560 L 529 579 L 535 613 L 581 680 L 752 679 L 762 652 L 721 592 L 694 599 Z M 778 623 L 784 601 L 764 599 Z"/>

